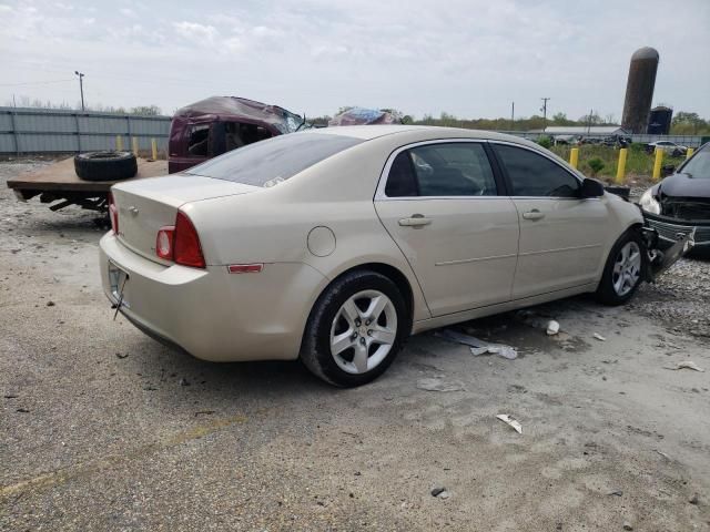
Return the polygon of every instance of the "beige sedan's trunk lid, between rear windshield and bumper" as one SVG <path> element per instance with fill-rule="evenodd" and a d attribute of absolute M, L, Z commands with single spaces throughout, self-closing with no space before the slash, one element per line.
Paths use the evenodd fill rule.
<path fill-rule="evenodd" d="M 114 185 L 111 193 L 119 213 L 119 241 L 145 258 L 172 264 L 155 254 L 155 238 L 161 227 L 175 224 L 182 205 L 257 190 L 241 183 L 186 174 Z M 196 229 L 199 233 L 200 228 Z"/>

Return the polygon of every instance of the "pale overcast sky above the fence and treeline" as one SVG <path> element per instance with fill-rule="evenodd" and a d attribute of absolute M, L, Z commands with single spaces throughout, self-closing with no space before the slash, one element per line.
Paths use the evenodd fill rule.
<path fill-rule="evenodd" d="M 310 116 L 620 119 L 629 60 L 660 53 L 653 104 L 710 117 L 710 0 L 0 0 L 0 105 L 12 95 L 155 104 L 239 95 Z"/>

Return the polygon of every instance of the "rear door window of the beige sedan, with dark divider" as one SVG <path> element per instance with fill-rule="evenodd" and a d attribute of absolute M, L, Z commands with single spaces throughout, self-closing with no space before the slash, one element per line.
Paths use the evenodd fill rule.
<path fill-rule="evenodd" d="M 399 153 L 385 194 L 403 196 L 495 196 L 496 182 L 481 144 L 436 143 Z"/>

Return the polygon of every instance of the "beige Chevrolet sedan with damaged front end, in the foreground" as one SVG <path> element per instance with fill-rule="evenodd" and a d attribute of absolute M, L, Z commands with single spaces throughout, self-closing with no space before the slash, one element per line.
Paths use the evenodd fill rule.
<path fill-rule="evenodd" d="M 106 296 L 213 361 L 296 359 L 337 386 L 410 334 L 567 296 L 629 300 L 633 204 L 516 136 L 408 125 L 276 136 L 113 186 Z"/>

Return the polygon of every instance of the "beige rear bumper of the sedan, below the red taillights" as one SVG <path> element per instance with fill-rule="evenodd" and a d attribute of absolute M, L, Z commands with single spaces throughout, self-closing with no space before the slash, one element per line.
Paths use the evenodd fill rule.
<path fill-rule="evenodd" d="M 164 266 L 101 238 L 101 277 L 113 305 L 163 344 L 211 361 L 291 360 L 326 279 L 302 263 L 267 264 L 261 273 L 230 274 L 226 266 Z M 116 286 L 118 270 L 128 275 Z"/>

